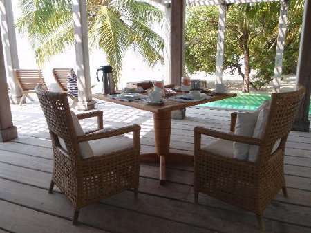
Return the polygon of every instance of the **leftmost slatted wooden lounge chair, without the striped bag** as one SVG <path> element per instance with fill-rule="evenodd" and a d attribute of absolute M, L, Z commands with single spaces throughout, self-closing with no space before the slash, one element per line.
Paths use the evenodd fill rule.
<path fill-rule="evenodd" d="M 21 101 L 19 102 L 19 106 L 23 104 L 26 97 L 29 100 L 33 101 L 32 97 L 28 94 L 35 93 L 35 87 L 37 84 L 41 84 L 46 90 L 46 84 L 44 82 L 44 78 L 42 76 L 41 70 L 27 70 L 27 69 L 15 69 L 13 71 L 15 79 L 19 84 L 19 88 L 21 88 Z"/>

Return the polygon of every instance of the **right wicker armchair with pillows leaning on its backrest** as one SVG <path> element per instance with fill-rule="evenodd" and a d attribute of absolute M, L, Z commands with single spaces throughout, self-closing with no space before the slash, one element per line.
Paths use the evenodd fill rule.
<path fill-rule="evenodd" d="M 303 86 L 293 92 L 272 93 L 267 124 L 261 139 L 232 133 L 236 124 L 236 113 L 232 113 L 231 133 L 204 127 L 194 128 L 194 201 L 198 201 L 198 193 L 202 192 L 254 212 L 259 227 L 264 230 L 262 216 L 267 205 L 280 189 L 287 196 L 283 170 L 285 143 L 304 93 Z M 225 153 L 216 153 L 217 149 L 209 149 L 215 148 L 212 144 L 201 148 L 202 134 L 220 138 L 215 142 L 225 145 L 218 144 L 217 149 L 226 148 L 226 151 L 233 151 L 234 141 L 258 145 L 258 159 L 256 162 L 249 162 L 233 158 L 233 155 L 224 156 Z M 275 143 L 280 139 L 279 147 L 273 151 Z"/>

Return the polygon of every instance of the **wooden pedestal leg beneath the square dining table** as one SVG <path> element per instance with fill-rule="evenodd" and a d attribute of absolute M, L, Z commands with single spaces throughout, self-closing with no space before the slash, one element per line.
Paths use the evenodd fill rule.
<path fill-rule="evenodd" d="M 165 183 L 165 158 L 169 156 L 171 140 L 171 112 L 153 113 L 156 152 L 160 157 L 160 184 Z"/>

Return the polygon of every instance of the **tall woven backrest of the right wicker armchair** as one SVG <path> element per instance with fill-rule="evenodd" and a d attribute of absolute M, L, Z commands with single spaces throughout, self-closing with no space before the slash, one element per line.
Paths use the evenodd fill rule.
<path fill-rule="evenodd" d="M 285 149 L 285 142 L 299 111 L 303 95 L 305 95 L 304 86 L 299 86 L 292 92 L 272 93 L 259 160 L 265 161 L 270 158 L 272 149 L 279 139 L 281 139 L 279 148 Z"/>

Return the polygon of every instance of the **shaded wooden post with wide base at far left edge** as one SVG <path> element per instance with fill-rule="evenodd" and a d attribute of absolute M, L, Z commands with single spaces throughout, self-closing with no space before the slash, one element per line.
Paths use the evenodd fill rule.
<path fill-rule="evenodd" d="M 13 138 L 17 138 L 17 128 L 12 122 L 5 66 L 2 39 L 0 37 L 0 142 L 6 142 Z"/>

